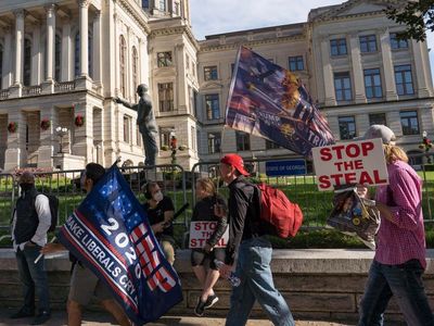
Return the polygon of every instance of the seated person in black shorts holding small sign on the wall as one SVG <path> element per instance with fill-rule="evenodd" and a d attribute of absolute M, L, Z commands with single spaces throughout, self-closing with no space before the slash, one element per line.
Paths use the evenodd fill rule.
<path fill-rule="evenodd" d="M 220 273 L 214 260 L 225 261 L 226 249 L 215 248 L 215 246 L 225 234 L 228 223 L 226 218 L 227 206 L 225 200 L 217 195 L 213 180 L 209 178 L 202 178 L 196 181 L 196 198 L 199 201 L 194 206 L 191 221 L 217 222 L 217 226 L 214 230 L 210 230 L 210 228 L 203 229 L 203 233 L 206 233 L 206 236 L 208 236 L 204 247 L 202 249 L 192 249 L 191 251 L 191 265 L 194 275 L 202 285 L 202 294 L 197 299 L 194 314 L 203 316 L 205 309 L 212 308 L 218 301 L 218 297 L 214 292 L 213 287 L 217 283 Z M 214 214 L 215 208 L 221 212 L 221 217 Z M 200 223 L 195 224 L 195 227 L 200 228 L 201 225 L 208 224 Z M 209 269 L 207 272 L 204 266 L 205 263 L 209 264 Z"/>

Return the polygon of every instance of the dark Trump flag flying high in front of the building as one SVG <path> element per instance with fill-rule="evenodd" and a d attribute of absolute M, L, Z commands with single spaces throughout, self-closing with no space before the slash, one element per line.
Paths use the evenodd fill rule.
<path fill-rule="evenodd" d="M 303 155 L 334 143 L 326 118 L 299 79 L 241 47 L 229 90 L 226 125 Z"/>

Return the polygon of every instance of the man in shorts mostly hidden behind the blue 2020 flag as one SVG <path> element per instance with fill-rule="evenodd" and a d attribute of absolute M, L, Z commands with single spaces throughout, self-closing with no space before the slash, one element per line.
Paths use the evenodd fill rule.
<path fill-rule="evenodd" d="M 105 174 L 102 165 L 89 163 L 81 179 L 81 188 L 89 193 L 93 186 Z M 48 243 L 41 253 L 48 254 L 65 250 L 62 243 Z M 82 319 L 82 308 L 87 306 L 92 297 L 100 300 L 101 305 L 108 311 L 122 326 L 131 325 L 123 309 L 114 301 L 108 288 L 79 261 L 74 264 L 67 301 L 68 326 L 79 326 Z"/>

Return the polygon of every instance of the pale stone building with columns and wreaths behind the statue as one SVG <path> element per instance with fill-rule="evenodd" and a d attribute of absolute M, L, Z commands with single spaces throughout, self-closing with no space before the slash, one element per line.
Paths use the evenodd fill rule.
<path fill-rule="evenodd" d="M 177 153 L 184 168 L 217 159 L 220 148 L 246 158 L 290 154 L 234 130 L 222 136 L 241 45 L 298 74 L 336 139 L 384 123 L 417 151 L 422 131 L 434 134 L 427 48 L 396 40 L 401 27 L 384 16 L 388 4 L 349 0 L 311 10 L 306 23 L 199 41 L 188 0 L 2 0 L 0 167 L 108 166 L 117 156 L 141 164 L 137 114 L 113 101 L 136 102 L 141 83 L 150 85 L 159 147 L 175 133 L 188 148 Z M 162 150 L 158 164 L 169 153 Z"/>

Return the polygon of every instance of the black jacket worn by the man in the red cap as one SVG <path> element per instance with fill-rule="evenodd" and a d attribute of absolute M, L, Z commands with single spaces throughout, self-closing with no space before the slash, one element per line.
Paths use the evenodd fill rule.
<path fill-rule="evenodd" d="M 229 241 L 225 263 L 232 265 L 242 240 L 265 234 L 258 188 L 240 176 L 229 184 Z"/>

